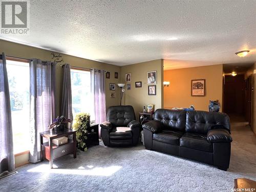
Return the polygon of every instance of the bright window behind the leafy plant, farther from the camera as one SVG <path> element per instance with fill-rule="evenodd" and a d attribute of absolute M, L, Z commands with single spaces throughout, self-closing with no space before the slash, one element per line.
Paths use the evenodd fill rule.
<path fill-rule="evenodd" d="M 80 112 L 90 113 L 91 121 L 95 120 L 94 103 L 91 94 L 91 72 L 71 69 L 72 112 L 75 118 Z"/>

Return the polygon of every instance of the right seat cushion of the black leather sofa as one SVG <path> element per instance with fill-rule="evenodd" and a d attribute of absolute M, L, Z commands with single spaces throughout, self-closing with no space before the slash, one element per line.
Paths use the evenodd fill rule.
<path fill-rule="evenodd" d="M 180 138 L 180 146 L 194 148 L 205 152 L 213 152 L 212 143 L 207 141 L 206 135 L 197 133 L 185 133 Z"/>

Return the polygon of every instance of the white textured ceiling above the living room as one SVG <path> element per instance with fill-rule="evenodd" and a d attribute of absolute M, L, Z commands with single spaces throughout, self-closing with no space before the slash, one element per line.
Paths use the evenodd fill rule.
<path fill-rule="evenodd" d="M 30 0 L 30 34 L 0 38 L 118 66 L 247 63 L 256 61 L 255 15 L 256 0 Z M 248 56 L 234 54 L 244 49 Z"/>

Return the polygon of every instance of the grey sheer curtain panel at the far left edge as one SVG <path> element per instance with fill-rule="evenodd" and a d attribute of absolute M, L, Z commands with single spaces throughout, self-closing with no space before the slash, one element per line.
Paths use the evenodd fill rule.
<path fill-rule="evenodd" d="M 0 55 L 0 175 L 14 168 L 10 93 L 3 53 Z"/>

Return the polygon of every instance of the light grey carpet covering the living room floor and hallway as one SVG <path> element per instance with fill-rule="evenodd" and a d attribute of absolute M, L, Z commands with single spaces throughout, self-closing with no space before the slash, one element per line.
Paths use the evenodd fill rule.
<path fill-rule="evenodd" d="M 235 118 L 236 119 L 236 118 Z M 235 120 L 227 172 L 214 166 L 159 152 L 143 145 L 99 146 L 54 161 L 18 168 L 0 181 L 0 191 L 231 191 L 234 178 L 256 180 L 256 137 L 248 125 Z"/>

